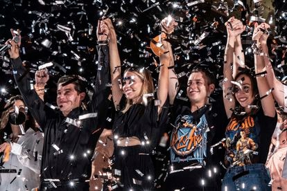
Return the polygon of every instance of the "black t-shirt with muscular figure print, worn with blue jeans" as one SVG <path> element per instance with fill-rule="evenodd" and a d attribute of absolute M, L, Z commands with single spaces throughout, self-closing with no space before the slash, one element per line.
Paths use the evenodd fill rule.
<path fill-rule="evenodd" d="M 264 116 L 262 109 L 252 116 L 232 116 L 225 131 L 225 165 L 265 163 L 275 125 L 276 116 Z"/>

